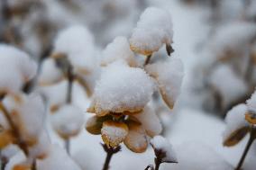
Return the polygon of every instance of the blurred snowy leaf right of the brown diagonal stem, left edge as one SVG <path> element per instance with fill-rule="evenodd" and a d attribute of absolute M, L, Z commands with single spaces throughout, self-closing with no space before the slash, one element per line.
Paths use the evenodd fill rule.
<path fill-rule="evenodd" d="M 45 108 L 40 95 L 7 95 L 3 103 L 23 141 L 29 146 L 36 144 L 45 120 Z"/>

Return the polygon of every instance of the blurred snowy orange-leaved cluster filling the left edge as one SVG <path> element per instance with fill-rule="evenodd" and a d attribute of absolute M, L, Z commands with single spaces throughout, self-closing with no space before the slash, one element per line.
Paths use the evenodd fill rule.
<path fill-rule="evenodd" d="M 0 149 L 5 153 L 16 145 L 26 158 L 14 169 L 35 169 L 36 159 L 48 155 L 48 146 L 41 145 L 47 140 L 43 130 L 45 111 L 41 97 L 24 94 L 22 89 L 35 76 L 37 65 L 23 51 L 5 44 L 0 44 L 0 65 Z M 7 163 L 5 157 L 2 169 Z"/>

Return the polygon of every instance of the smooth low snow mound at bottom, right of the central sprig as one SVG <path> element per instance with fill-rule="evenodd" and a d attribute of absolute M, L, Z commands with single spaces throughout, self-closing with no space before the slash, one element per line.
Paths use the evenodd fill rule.
<path fill-rule="evenodd" d="M 173 170 L 233 170 L 215 150 L 198 141 L 189 141 L 176 148 L 178 164 Z"/>

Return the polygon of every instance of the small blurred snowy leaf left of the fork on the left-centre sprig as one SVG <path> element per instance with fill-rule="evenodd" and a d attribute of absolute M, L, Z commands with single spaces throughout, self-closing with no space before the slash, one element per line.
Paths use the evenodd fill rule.
<path fill-rule="evenodd" d="M 53 58 L 46 58 L 41 64 L 41 73 L 38 77 L 40 85 L 52 85 L 63 78 L 61 70 L 56 66 Z"/>

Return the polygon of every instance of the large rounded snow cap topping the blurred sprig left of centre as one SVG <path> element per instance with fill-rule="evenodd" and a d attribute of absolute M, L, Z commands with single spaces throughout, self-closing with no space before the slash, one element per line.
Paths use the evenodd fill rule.
<path fill-rule="evenodd" d="M 67 56 L 78 72 L 90 73 L 96 65 L 94 38 L 86 27 L 70 26 L 54 41 L 53 58 Z"/>

